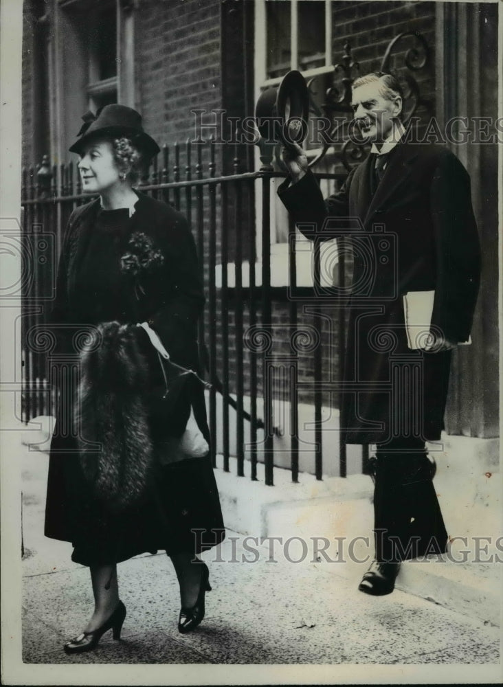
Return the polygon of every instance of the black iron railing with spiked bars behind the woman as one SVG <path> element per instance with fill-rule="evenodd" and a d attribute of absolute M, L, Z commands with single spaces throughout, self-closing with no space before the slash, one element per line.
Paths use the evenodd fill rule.
<path fill-rule="evenodd" d="M 172 203 L 188 216 L 199 249 L 207 294 L 200 341 L 208 343 L 201 352 L 212 384 L 208 398 L 212 455 L 222 456 L 219 460 L 225 471 L 235 457 L 238 475 L 245 475 L 249 460 L 252 480 L 257 479 L 258 465 L 263 462 L 266 484 L 273 484 L 274 464 L 289 466 L 294 482 L 302 469 L 322 479 L 326 472 L 322 409 L 338 405 L 324 385 L 328 376 L 333 378 L 342 371 L 344 308 L 332 304 L 331 322 L 335 318 L 337 324 L 324 332 L 324 313 L 311 307 L 313 286 L 297 283 L 300 254 L 295 250 L 293 227 L 289 257 L 284 262 L 284 284 L 288 286 L 275 285 L 278 267 L 274 265 L 275 273 L 271 273 L 271 207 L 279 201 L 272 187 L 284 174 L 243 172 L 237 157 L 232 174 L 217 174 L 217 150 L 210 143 L 175 144 L 172 150 L 164 146 L 161 165 L 156 161 L 139 185 L 142 192 Z M 344 174 L 317 177 L 327 180 L 333 189 Z M 256 218 L 258 196 L 262 210 Z M 52 169 L 43 164 L 38 172 L 23 172 L 23 241 L 30 258 L 26 269 L 31 273 L 23 293 L 25 422 L 55 414 L 43 326 L 54 297 L 65 225 L 74 207 L 88 200 L 73 164 Z M 315 272 L 319 273 L 319 247 L 313 253 Z M 344 267 L 344 262 L 340 265 Z M 344 280 L 344 269 L 339 271 L 339 279 Z M 299 433 L 300 405 L 313 409 L 314 446 L 308 449 L 313 450 L 314 461 L 307 468 L 299 462 L 306 453 Z M 281 422 L 278 416 L 287 420 Z M 280 451 L 279 444 L 286 440 L 289 446 Z M 335 444 L 339 469 L 332 466 L 331 473 L 345 476 L 345 447 Z M 329 448 L 333 454 L 334 449 Z M 362 456 L 365 460 L 365 449 Z"/>

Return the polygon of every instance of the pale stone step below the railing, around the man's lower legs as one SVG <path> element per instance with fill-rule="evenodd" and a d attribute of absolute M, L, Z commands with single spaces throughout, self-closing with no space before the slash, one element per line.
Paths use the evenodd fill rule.
<path fill-rule="evenodd" d="M 236 477 L 236 467 L 231 458 L 230 473 L 216 471 L 227 527 L 243 536 L 280 537 L 270 540 L 278 556 L 321 567 L 357 585 L 373 556 L 370 477 L 328 477 L 319 482 L 303 474 L 300 484 L 292 484 L 289 471 L 276 468 L 275 486 L 265 486 L 263 466 L 258 466 L 257 482 Z M 407 561 L 396 587 L 500 626 L 503 539 L 498 548 L 502 531 L 498 474 L 492 482 L 493 477 L 484 475 L 474 477 L 475 483 L 461 480 L 463 491 L 444 473 L 440 461 L 435 484 L 442 489 L 439 499 L 446 527 L 451 537 L 464 536 L 466 543 L 455 539 L 449 554 L 440 559 Z M 482 487 L 487 489 L 485 500 Z M 479 493 L 479 502 L 473 502 L 474 492 Z"/>

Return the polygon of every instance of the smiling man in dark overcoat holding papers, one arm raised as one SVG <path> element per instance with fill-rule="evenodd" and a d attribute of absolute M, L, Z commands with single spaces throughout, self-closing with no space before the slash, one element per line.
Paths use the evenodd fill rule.
<path fill-rule="evenodd" d="M 355 80 L 368 158 L 324 200 L 302 148 L 286 147 L 278 189 L 306 238 L 344 236 L 353 249 L 340 431 L 377 444 L 375 561 L 359 585 L 375 595 L 392 592 L 401 561 L 446 550 L 425 441 L 440 439 L 451 350 L 470 342 L 480 274 L 469 175 L 446 148 L 407 140 L 402 103 L 390 74 Z"/>

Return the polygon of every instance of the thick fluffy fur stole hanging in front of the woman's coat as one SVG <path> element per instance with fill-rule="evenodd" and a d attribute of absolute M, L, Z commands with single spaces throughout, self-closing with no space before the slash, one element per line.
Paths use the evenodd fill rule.
<path fill-rule="evenodd" d="M 137 504 L 153 476 L 141 332 L 135 325 L 105 322 L 81 355 L 74 412 L 80 464 L 96 497 L 115 512 Z"/>

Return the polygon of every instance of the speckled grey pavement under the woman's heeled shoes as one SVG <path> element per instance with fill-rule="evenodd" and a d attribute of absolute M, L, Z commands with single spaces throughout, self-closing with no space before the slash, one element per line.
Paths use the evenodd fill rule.
<path fill-rule="evenodd" d="M 213 590 L 196 631 L 177 631 L 170 560 L 145 554 L 118 569 L 127 609 L 120 642 L 107 633 L 95 651 L 69 657 L 63 643 L 80 633 L 93 605 L 89 571 L 71 562 L 69 543 L 43 536 L 47 454 L 23 445 L 19 451 L 25 664 L 500 664 L 500 629 L 487 621 L 399 589 L 366 596 L 344 564 L 334 574 L 311 556 L 293 563 L 298 555 L 281 547 L 273 562 L 269 542 L 232 531 L 203 554 Z"/>

